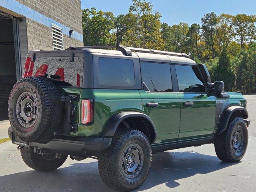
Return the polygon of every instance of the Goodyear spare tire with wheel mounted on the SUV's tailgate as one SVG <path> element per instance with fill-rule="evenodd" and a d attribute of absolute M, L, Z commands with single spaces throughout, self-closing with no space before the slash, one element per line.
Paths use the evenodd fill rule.
<path fill-rule="evenodd" d="M 15 135 L 21 140 L 50 140 L 60 126 L 61 114 L 60 94 L 48 78 L 22 78 L 12 88 L 8 115 Z"/>

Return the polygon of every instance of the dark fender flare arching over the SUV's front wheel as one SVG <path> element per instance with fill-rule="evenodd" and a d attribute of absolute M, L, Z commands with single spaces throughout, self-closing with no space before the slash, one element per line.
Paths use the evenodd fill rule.
<path fill-rule="evenodd" d="M 220 121 L 220 126 L 218 128 L 217 135 L 221 134 L 222 132 L 224 132 L 224 130 L 226 130 L 226 128 L 228 126 L 228 122 L 230 120 L 230 117 L 236 111 L 240 111 L 242 113 L 244 119 L 248 118 L 248 112 L 247 112 L 246 108 L 244 108 L 244 107 L 230 106 L 230 107 L 226 108 L 226 110 L 222 114 L 222 118 Z"/>

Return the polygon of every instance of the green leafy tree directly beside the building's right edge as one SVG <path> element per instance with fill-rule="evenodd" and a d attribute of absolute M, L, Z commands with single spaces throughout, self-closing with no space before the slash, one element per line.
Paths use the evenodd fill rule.
<path fill-rule="evenodd" d="M 114 15 L 112 12 L 96 11 L 96 8 L 82 10 L 84 46 L 112 45 L 114 37 Z"/>

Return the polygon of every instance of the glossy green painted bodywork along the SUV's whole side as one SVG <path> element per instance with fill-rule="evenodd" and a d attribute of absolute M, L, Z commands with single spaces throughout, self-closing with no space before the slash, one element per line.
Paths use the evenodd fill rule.
<path fill-rule="evenodd" d="M 214 136 L 216 100 L 222 100 L 224 107 L 246 107 L 244 97 L 233 92 L 228 92 L 230 98 L 222 99 L 215 94 L 144 90 L 60 88 L 60 91 L 80 97 L 79 102 L 73 102 L 76 110 L 72 116 L 78 132 L 70 136 L 101 136 L 114 114 L 135 111 L 148 115 L 154 122 L 158 134 L 154 144 Z M 94 100 L 94 122 L 90 125 L 82 125 L 80 121 L 82 99 Z M 146 107 L 150 102 L 159 106 Z M 193 102 L 194 106 L 186 107 L 184 102 Z"/>

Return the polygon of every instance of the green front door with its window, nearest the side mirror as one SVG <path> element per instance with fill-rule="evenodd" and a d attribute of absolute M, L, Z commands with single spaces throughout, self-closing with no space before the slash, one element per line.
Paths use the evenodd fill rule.
<path fill-rule="evenodd" d="M 175 65 L 181 105 L 178 140 L 211 136 L 216 118 L 216 98 L 207 89 L 198 66 Z"/>

